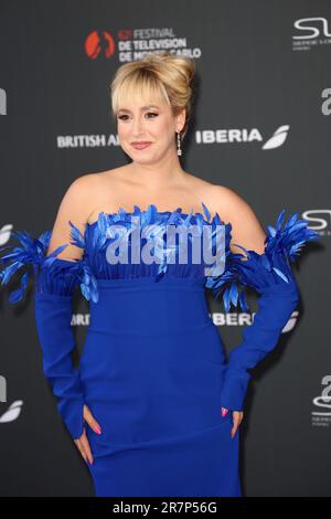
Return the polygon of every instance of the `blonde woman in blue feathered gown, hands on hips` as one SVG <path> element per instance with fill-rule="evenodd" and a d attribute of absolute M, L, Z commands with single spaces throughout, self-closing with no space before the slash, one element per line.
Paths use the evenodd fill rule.
<path fill-rule="evenodd" d="M 168 53 L 119 67 L 113 114 L 131 162 L 76 179 L 52 233 L 39 241 L 17 233 L 22 248 L 2 257 L 11 262 L 2 284 L 22 265 L 33 266 L 43 371 L 96 496 L 242 496 L 238 428 L 247 369 L 276 346 L 296 308 L 290 261 L 317 237 L 297 215 L 282 229 L 284 211 L 266 236 L 237 193 L 181 168 L 193 80 L 193 61 Z M 156 239 L 147 235 L 135 248 L 132 222 L 140 230 L 209 226 L 213 244 L 216 226 L 223 227 L 225 271 L 206 275 L 203 261 L 171 264 L 171 254 L 159 263 L 110 261 L 109 244 L 119 235 L 131 253 Z M 111 234 L 116 225 L 119 234 Z M 178 245 L 168 252 L 178 258 Z M 26 282 L 28 273 L 12 303 Z M 70 322 L 78 284 L 90 301 L 90 326 L 76 370 Z M 222 293 L 228 311 L 231 304 L 247 309 L 245 286 L 260 294 L 259 311 L 226 362 L 204 289 Z"/>

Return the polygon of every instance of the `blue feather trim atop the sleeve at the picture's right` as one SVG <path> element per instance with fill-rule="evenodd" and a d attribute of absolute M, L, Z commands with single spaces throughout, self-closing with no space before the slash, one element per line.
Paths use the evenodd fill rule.
<path fill-rule="evenodd" d="M 231 305 L 236 307 L 238 303 L 243 311 L 249 310 L 245 292 L 239 290 L 239 285 L 263 293 L 274 283 L 292 280 L 290 262 L 296 261 L 307 242 L 319 239 L 314 231 L 307 229 L 308 223 L 305 220 L 298 220 L 298 213 L 292 214 L 281 229 L 284 215 L 285 209 L 277 219 L 276 227 L 268 225 L 263 254 L 234 244 L 247 254 L 247 258 L 244 254 L 229 251 L 224 273 L 221 276 L 207 278 L 205 287 L 212 289 L 215 298 L 223 294 L 226 313 L 229 311 Z"/>

